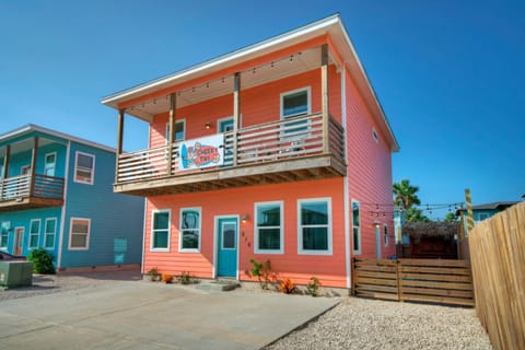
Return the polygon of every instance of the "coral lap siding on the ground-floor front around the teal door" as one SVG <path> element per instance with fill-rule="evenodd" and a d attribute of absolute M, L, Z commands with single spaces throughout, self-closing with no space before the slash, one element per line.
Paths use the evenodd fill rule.
<path fill-rule="evenodd" d="M 298 199 L 331 198 L 332 255 L 315 256 L 298 254 Z M 254 253 L 254 203 L 283 201 L 284 254 Z M 152 197 L 148 200 L 147 234 L 144 240 L 144 271 L 152 267 L 161 272 L 180 273 L 189 271 L 203 278 L 212 277 L 214 215 L 238 215 L 247 213 L 249 222 L 240 223 L 240 279 L 249 280 L 249 259 L 269 259 L 279 279 L 291 278 L 305 284 L 312 276 L 324 285 L 346 287 L 345 233 L 342 214 L 342 179 L 290 183 L 254 186 L 229 190 Z M 201 252 L 179 253 L 180 208 L 201 207 Z M 151 211 L 171 209 L 171 249 L 168 253 L 151 252 Z M 244 233 L 244 235 L 243 235 Z"/>

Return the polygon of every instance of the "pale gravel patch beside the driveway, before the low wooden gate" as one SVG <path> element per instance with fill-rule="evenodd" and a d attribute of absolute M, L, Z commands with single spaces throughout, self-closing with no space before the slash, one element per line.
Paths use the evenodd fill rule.
<path fill-rule="evenodd" d="M 305 328 L 265 348 L 492 349 L 472 308 L 345 298 Z"/>

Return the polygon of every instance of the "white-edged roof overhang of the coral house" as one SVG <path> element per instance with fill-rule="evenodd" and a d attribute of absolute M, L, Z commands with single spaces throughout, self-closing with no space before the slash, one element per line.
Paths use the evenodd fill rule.
<path fill-rule="evenodd" d="M 343 59 L 343 65 L 349 70 L 352 78 L 358 78 L 354 82 L 358 89 L 364 95 L 365 101 L 371 102 L 369 103 L 369 107 L 371 108 L 372 115 L 374 115 L 377 120 L 382 120 L 384 122 L 384 127 L 387 132 L 386 137 L 389 140 L 388 143 L 390 144 L 390 150 L 393 152 L 398 152 L 399 143 L 397 142 L 397 139 L 388 122 L 388 119 L 386 118 L 386 115 L 377 98 L 377 95 L 372 88 L 372 84 L 370 83 L 366 72 L 361 65 L 361 61 L 359 60 L 350 36 L 348 35 L 339 14 L 330 15 L 328 18 L 312 22 L 299 28 L 259 42 L 257 44 L 249 45 L 226 55 L 219 56 L 205 62 L 191 66 L 175 73 L 167 74 L 159 79 L 136 85 L 133 88 L 107 95 L 103 97 L 102 104 L 118 109 L 118 105 L 125 101 L 141 97 L 143 95 L 154 93 L 167 86 L 183 83 L 194 78 L 206 75 L 207 73 L 210 73 L 212 71 L 232 67 L 254 57 L 260 57 L 270 54 L 279 49 L 280 47 L 291 46 L 296 43 L 301 43 L 310 38 L 326 35 L 329 33 L 337 33 L 343 38 L 343 43 L 340 43 L 339 45 L 346 44 L 347 47 L 338 47 L 341 50 L 340 54 Z"/>

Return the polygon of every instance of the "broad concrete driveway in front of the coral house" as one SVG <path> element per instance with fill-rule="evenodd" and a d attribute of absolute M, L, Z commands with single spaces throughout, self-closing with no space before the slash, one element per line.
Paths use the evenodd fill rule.
<path fill-rule="evenodd" d="M 337 299 L 144 281 L 0 302 L 1 349 L 260 349 Z"/>

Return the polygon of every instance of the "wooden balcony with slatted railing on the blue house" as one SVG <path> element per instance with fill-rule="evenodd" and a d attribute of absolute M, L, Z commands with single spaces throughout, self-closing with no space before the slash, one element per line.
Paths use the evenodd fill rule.
<path fill-rule="evenodd" d="M 0 179 L 0 212 L 63 205 L 63 178 L 20 175 Z"/>

